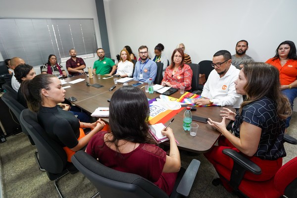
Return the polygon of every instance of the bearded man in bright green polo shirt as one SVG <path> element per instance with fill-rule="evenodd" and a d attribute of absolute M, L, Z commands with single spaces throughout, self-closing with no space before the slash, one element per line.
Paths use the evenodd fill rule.
<path fill-rule="evenodd" d="M 99 60 L 94 62 L 93 73 L 111 76 L 116 71 L 116 65 L 110 58 L 105 57 L 102 48 L 97 49 Z"/>

